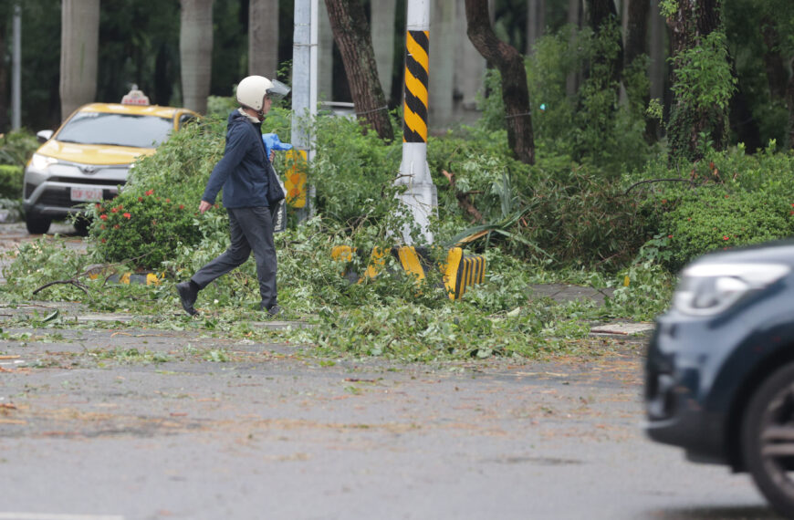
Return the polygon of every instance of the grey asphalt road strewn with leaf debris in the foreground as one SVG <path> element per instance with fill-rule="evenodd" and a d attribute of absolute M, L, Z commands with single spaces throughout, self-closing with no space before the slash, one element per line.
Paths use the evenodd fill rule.
<path fill-rule="evenodd" d="M 775 517 L 645 439 L 642 343 L 406 366 L 0 326 L 0 520 Z"/>

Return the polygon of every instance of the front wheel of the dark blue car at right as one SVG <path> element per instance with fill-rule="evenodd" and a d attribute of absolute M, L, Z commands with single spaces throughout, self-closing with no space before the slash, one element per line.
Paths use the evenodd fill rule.
<path fill-rule="evenodd" d="M 772 373 L 742 423 L 747 470 L 772 506 L 794 517 L 794 363 Z"/>

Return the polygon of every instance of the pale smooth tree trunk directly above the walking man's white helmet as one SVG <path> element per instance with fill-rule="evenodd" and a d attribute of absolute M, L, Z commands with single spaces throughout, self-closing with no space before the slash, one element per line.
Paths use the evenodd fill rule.
<path fill-rule="evenodd" d="M 248 75 L 276 78 L 278 0 L 249 0 Z"/>

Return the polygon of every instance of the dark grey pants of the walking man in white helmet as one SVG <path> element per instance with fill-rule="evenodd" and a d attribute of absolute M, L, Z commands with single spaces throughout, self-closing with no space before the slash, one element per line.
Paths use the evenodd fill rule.
<path fill-rule="evenodd" d="M 232 244 L 223 255 L 204 265 L 191 279 L 203 289 L 218 276 L 245 264 L 253 251 L 262 307 L 269 309 L 276 305 L 276 246 L 273 244 L 270 208 L 228 208 L 226 211 L 229 213 Z"/>

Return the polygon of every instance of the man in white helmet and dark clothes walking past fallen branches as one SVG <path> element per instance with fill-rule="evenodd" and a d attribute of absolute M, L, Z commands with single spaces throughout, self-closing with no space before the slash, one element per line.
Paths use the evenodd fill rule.
<path fill-rule="evenodd" d="M 191 316 L 198 314 L 193 304 L 199 291 L 218 276 L 243 265 L 251 252 L 256 260 L 256 277 L 262 296 L 260 309 L 266 310 L 269 316 L 277 316 L 281 312 L 277 304 L 276 247 L 269 209 L 272 195 L 268 201 L 268 188 L 273 188 L 268 182 L 271 158 L 266 155 L 261 126 L 270 110 L 271 97 L 284 96 L 288 90 L 278 81 L 261 76 L 249 76 L 237 86 L 240 108 L 229 114 L 224 157 L 210 174 L 199 203 L 199 212 L 206 212 L 223 188 L 231 244 L 190 280 L 176 285 L 182 307 Z"/>

